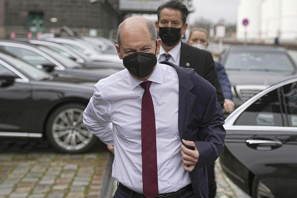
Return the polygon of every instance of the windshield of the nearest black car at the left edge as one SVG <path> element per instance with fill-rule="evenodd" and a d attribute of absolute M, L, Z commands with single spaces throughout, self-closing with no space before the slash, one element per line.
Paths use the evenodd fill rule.
<path fill-rule="evenodd" d="M 34 80 L 43 80 L 51 78 L 51 75 L 41 69 L 37 69 L 33 65 L 28 64 L 18 58 L 14 58 L 10 55 L 0 53 L 0 58 L 8 62 L 12 66 L 16 67 L 21 72 L 30 76 Z"/>

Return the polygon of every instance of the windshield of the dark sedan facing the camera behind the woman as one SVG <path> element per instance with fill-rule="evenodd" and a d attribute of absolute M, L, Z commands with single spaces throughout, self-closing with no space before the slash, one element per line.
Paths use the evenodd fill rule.
<path fill-rule="evenodd" d="M 226 70 L 293 72 L 295 67 L 285 53 L 275 52 L 230 52 Z"/>

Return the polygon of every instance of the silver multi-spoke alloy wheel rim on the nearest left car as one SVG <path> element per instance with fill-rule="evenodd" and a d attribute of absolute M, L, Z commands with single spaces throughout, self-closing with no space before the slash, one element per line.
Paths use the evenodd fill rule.
<path fill-rule="evenodd" d="M 87 146 L 93 134 L 83 123 L 83 110 L 69 108 L 55 117 L 52 124 L 52 136 L 62 149 L 76 151 Z"/>

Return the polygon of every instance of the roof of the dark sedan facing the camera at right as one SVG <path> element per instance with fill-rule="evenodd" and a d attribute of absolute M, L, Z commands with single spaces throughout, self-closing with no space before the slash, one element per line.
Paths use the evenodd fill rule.
<path fill-rule="evenodd" d="M 265 52 L 286 52 L 286 48 L 277 45 L 231 45 L 231 52 L 241 51 L 265 51 Z"/>

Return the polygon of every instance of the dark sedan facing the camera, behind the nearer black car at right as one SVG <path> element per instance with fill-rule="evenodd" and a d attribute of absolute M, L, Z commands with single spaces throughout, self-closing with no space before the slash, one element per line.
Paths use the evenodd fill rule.
<path fill-rule="evenodd" d="M 221 55 L 235 106 L 272 84 L 297 75 L 297 67 L 280 46 L 232 45 Z"/>

